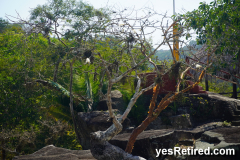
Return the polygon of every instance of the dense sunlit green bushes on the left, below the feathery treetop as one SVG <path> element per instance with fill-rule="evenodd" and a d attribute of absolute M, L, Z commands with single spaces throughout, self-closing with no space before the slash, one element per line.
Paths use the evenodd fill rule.
<path fill-rule="evenodd" d="M 61 92 L 34 83 L 43 77 L 52 79 L 52 64 L 58 56 L 57 52 L 58 48 L 49 46 L 47 39 L 40 34 L 27 36 L 22 30 L 13 28 L 7 28 L 0 34 L 0 141 L 5 148 L 16 149 L 20 154 L 32 153 L 47 144 L 45 139 L 61 131 L 44 131 L 41 121 L 56 123 L 55 128 L 71 122 L 69 107 L 58 103 L 58 98 L 64 95 L 62 93 L 67 94 L 68 91 L 51 80 L 49 84 Z M 59 74 L 63 79 L 69 77 L 62 70 Z M 71 125 L 69 123 L 67 130 L 53 138 L 52 143 L 79 149 Z M 70 141 L 67 143 L 66 140 Z M 11 156 L 14 155 L 7 152 L 7 158 L 12 159 Z"/>

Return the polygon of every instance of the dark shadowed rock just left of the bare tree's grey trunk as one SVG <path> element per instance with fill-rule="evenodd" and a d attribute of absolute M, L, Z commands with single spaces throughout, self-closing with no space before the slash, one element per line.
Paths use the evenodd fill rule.
<path fill-rule="evenodd" d="M 117 118 L 120 118 L 118 110 L 113 110 Z M 109 119 L 108 111 L 79 112 L 77 116 L 77 126 L 80 132 L 81 145 L 83 149 L 90 149 L 90 133 L 105 131 L 113 123 Z M 129 128 L 130 120 L 127 118 L 123 122 L 123 131 Z"/>

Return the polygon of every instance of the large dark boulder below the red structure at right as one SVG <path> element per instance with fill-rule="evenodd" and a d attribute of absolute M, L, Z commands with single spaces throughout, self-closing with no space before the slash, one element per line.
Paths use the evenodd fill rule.
<path fill-rule="evenodd" d="M 184 94 L 162 111 L 149 129 L 187 129 L 198 125 L 227 121 L 240 126 L 240 100 L 220 94 Z"/>

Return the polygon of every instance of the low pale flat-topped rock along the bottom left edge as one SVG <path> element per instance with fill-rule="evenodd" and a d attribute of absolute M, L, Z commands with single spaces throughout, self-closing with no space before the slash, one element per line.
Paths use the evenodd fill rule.
<path fill-rule="evenodd" d="M 69 150 L 48 145 L 33 154 L 15 156 L 13 160 L 96 160 L 90 150 Z"/>

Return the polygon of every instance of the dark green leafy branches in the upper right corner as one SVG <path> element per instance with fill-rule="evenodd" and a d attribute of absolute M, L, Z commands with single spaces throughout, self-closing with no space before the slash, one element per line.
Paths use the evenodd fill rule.
<path fill-rule="evenodd" d="M 198 44 L 217 45 L 216 54 L 232 55 L 231 64 L 221 59 L 215 64 L 234 67 L 239 59 L 239 13 L 239 0 L 217 0 L 210 4 L 201 2 L 197 10 L 180 16 L 182 24 L 196 30 Z"/>

